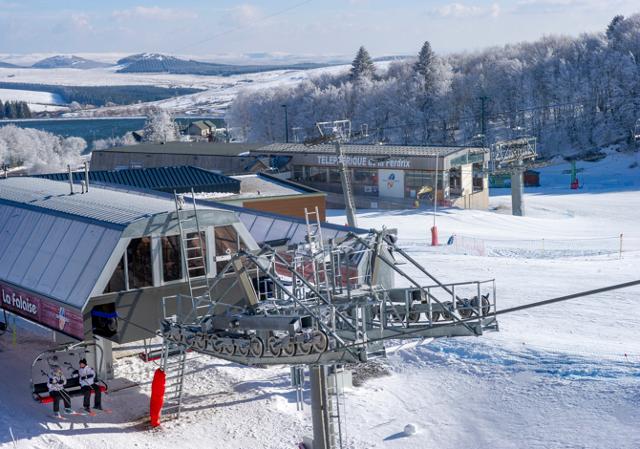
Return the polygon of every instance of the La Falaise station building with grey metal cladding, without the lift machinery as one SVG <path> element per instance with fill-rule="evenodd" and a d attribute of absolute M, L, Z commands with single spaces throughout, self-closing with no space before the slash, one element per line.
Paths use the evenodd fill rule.
<path fill-rule="evenodd" d="M 241 207 L 203 202 L 196 221 L 193 208 L 177 211 L 170 194 L 96 185 L 81 193 L 79 184 L 74 190 L 47 179 L 0 181 L 0 289 L 6 310 L 79 341 L 154 337 L 160 298 L 189 293 L 187 270 L 215 276 L 239 248 L 295 244 L 306 235 L 303 220 Z M 346 234 L 323 227 L 329 236 Z M 191 239 L 186 257 L 181 231 Z M 200 242 L 203 262 L 189 251 Z"/>

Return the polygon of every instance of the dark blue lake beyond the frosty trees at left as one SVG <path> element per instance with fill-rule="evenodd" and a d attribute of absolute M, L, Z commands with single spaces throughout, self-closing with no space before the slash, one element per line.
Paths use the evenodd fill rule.
<path fill-rule="evenodd" d="M 176 121 L 180 125 L 186 125 L 194 120 L 202 119 L 212 120 L 216 125 L 224 126 L 222 119 L 212 117 L 178 117 Z M 129 131 L 142 129 L 145 120 L 144 117 L 0 120 L 0 127 L 13 124 L 21 128 L 35 128 L 64 137 L 82 137 L 87 141 L 88 148 L 91 148 L 94 140 L 120 137 Z"/>

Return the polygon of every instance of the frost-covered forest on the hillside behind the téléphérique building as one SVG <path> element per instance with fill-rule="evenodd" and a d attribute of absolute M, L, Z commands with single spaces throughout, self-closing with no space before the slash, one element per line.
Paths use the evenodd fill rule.
<path fill-rule="evenodd" d="M 484 109 L 489 144 L 530 135 L 546 155 L 632 148 L 640 14 L 616 16 L 602 32 L 478 52 L 438 55 L 425 42 L 416 58 L 383 66 L 361 48 L 348 72 L 241 92 L 227 121 L 238 139 L 284 141 L 282 105 L 297 140 L 318 121 L 350 119 L 356 130 L 368 126 L 372 143 L 468 145 Z"/>

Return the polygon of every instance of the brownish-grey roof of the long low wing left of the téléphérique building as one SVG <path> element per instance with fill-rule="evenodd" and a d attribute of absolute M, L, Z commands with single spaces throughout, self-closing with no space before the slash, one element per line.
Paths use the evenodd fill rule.
<path fill-rule="evenodd" d="M 223 143 L 223 142 L 166 142 L 166 143 L 142 143 L 139 145 L 127 145 L 113 147 L 99 152 L 115 153 L 142 153 L 142 154 L 183 154 L 196 156 L 239 156 L 242 153 L 256 150 L 264 145 L 247 143 Z"/>

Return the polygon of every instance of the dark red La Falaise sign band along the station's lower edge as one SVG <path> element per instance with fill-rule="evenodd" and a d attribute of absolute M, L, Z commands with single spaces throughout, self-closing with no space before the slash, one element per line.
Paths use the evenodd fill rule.
<path fill-rule="evenodd" d="M 84 340 L 82 315 L 55 302 L 0 282 L 2 307 L 58 332 Z"/>

